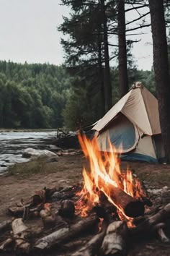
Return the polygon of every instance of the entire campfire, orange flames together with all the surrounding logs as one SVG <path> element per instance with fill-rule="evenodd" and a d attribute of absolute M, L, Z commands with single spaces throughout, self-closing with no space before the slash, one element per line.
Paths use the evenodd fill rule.
<path fill-rule="evenodd" d="M 97 138 L 79 135 L 87 163 L 84 184 L 44 188 L 30 200 L 9 208 L 12 220 L 0 223 L 1 252 L 16 255 L 127 255 L 129 238 L 156 233 L 169 242 L 164 227 L 168 205 L 152 205 L 146 188 L 109 142 L 100 152 Z M 39 223 L 39 229 L 30 223 Z M 8 233 L 12 228 L 12 232 Z M 55 253 L 55 254 L 53 254 Z"/>

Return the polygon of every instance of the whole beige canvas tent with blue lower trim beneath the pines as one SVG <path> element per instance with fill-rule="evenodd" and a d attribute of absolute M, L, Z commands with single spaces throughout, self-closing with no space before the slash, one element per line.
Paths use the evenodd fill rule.
<path fill-rule="evenodd" d="M 158 101 L 140 82 L 94 124 L 101 151 L 109 140 L 121 158 L 157 163 L 164 159 Z"/>

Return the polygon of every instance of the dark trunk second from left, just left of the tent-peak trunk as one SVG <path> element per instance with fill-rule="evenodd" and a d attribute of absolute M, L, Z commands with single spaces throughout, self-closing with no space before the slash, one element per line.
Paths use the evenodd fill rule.
<path fill-rule="evenodd" d="M 108 111 L 112 107 L 112 85 L 110 79 L 109 69 L 109 46 L 107 35 L 107 17 L 106 6 L 104 0 L 100 0 L 102 10 L 102 23 L 103 23 L 103 37 L 104 37 L 104 81 L 105 81 L 105 111 Z"/>

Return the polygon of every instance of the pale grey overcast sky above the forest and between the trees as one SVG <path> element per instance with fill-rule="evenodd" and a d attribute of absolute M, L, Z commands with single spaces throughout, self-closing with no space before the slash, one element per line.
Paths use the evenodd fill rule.
<path fill-rule="evenodd" d="M 62 64 L 62 34 L 57 28 L 68 15 L 60 0 L 0 0 L 0 60 Z M 139 69 L 151 69 L 151 28 L 135 43 L 133 54 Z M 134 38 L 133 38 L 134 39 Z"/>

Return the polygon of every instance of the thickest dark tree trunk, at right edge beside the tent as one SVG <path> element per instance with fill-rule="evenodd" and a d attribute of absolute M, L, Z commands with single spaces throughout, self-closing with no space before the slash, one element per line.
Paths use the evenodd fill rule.
<path fill-rule="evenodd" d="M 170 78 L 164 0 L 149 0 L 153 36 L 153 66 L 166 161 L 170 162 Z"/>

